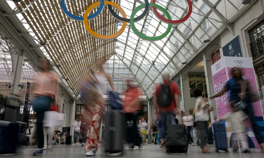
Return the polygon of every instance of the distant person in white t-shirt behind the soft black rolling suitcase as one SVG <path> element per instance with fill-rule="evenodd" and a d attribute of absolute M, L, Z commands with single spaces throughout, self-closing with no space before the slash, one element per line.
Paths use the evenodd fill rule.
<path fill-rule="evenodd" d="M 189 139 L 190 139 L 190 142 L 192 143 L 191 146 L 193 146 L 193 145 L 197 144 L 196 143 L 196 137 L 195 138 L 193 137 L 193 130 L 195 130 L 193 128 L 194 119 L 193 119 L 193 116 L 189 115 L 189 111 L 184 111 L 184 114 L 185 114 L 185 116 L 182 117 L 183 124 L 187 128 Z"/>

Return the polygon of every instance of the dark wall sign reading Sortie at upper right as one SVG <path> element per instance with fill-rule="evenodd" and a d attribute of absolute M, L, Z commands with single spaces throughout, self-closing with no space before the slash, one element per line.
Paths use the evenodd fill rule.
<path fill-rule="evenodd" d="M 242 57 L 242 51 L 240 47 L 239 36 L 236 36 L 223 48 L 223 55 L 227 57 Z"/>

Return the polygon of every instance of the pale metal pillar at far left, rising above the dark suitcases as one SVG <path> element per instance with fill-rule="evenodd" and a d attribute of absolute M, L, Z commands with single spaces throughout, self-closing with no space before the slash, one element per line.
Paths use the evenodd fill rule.
<path fill-rule="evenodd" d="M 16 53 L 16 54 L 10 53 L 10 55 L 12 58 L 12 74 L 14 74 L 12 94 L 18 95 L 25 52 L 22 51 L 21 54 L 20 53 Z"/>

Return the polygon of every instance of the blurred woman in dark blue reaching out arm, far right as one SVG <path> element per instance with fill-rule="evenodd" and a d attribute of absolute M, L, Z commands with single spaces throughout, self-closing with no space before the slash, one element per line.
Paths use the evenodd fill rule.
<path fill-rule="evenodd" d="M 236 104 L 243 102 L 245 104 L 245 109 L 243 111 L 249 116 L 251 125 L 254 130 L 255 137 L 260 145 L 260 150 L 264 153 L 264 138 L 260 133 L 260 128 L 256 124 L 256 118 L 254 116 L 254 111 L 251 105 L 251 95 L 250 95 L 250 86 L 245 77 L 242 77 L 242 72 L 239 68 L 234 67 L 231 69 L 233 78 L 227 81 L 224 89 L 210 97 L 211 99 L 215 97 L 220 97 L 225 92 L 230 91 L 230 101 Z M 243 89 L 243 90 L 242 90 Z"/>

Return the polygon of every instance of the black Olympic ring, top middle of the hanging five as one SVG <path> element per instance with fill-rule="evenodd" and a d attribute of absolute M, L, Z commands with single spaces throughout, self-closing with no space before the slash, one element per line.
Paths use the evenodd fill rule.
<path fill-rule="evenodd" d="M 111 0 L 108 0 L 108 1 L 111 1 Z M 140 21 L 140 20 L 141 20 L 142 18 L 144 18 L 144 17 L 147 15 L 147 13 L 148 13 L 149 2 L 148 2 L 148 0 L 144 0 L 144 1 L 145 1 L 145 4 L 146 4 L 145 9 L 144 9 L 143 13 L 142 13 L 140 16 L 134 18 L 134 22 Z M 107 4 L 107 7 L 108 7 L 108 10 L 109 10 L 110 14 L 111 14 L 116 20 L 130 23 L 130 18 L 123 18 L 123 17 L 117 15 L 117 14 L 114 12 L 114 10 L 113 10 L 112 5 Z"/>

